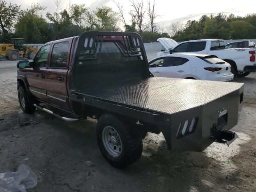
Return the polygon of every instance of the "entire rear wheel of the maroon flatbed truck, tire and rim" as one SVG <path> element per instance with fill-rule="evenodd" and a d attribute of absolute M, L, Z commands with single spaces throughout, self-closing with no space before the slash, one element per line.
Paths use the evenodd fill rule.
<path fill-rule="evenodd" d="M 127 167 L 142 154 L 140 132 L 112 114 L 104 114 L 98 119 L 97 141 L 104 158 L 116 168 Z"/>

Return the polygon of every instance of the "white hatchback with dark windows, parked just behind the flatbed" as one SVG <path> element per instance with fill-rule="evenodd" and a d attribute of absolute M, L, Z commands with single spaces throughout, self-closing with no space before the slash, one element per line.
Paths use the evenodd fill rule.
<path fill-rule="evenodd" d="M 168 54 L 148 62 L 156 77 L 233 81 L 231 66 L 214 55 Z"/>

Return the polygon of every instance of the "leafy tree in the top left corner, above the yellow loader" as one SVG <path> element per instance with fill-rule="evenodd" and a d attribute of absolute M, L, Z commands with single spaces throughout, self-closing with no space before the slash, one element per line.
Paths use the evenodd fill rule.
<path fill-rule="evenodd" d="M 19 15 L 20 6 L 0 0 L 0 33 L 3 41 L 9 41 Z"/>

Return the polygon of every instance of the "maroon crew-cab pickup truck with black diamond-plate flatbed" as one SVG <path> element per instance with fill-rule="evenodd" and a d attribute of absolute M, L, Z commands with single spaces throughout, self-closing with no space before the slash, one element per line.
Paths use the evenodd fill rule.
<path fill-rule="evenodd" d="M 66 121 L 96 118 L 100 151 L 117 168 L 140 158 L 148 132 L 162 132 L 170 150 L 202 151 L 236 139 L 230 129 L 243 84 L 153 77 L 137 33 L 84 32 L 48 42 L 17 67 L 22 110 Z"/>

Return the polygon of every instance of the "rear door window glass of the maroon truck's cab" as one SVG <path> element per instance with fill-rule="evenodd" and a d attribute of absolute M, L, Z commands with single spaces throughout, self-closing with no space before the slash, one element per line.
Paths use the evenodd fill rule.
<path fill-rule="evenodd" d="M 52 49 L 50 68 L 66 68 L 68 60 L 68 42 L 56 43 Z"/>

